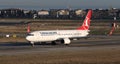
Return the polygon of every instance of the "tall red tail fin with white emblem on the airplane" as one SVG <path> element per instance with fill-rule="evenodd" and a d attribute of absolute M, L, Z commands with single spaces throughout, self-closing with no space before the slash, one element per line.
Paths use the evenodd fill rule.
<path fill-rule="evenodd" d="M 78 30 L 88 30 L 89 29 L 91 16 L 92 16 L 92 10 L 89 10 L 82 26 L 80 26 L 78 28 Z"/>

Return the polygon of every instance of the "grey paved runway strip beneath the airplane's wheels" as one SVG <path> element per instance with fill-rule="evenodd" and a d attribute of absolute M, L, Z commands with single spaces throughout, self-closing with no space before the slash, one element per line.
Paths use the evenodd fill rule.
<path fill-rule="evenodd" d="M 70 45 L 63 44 L 39 44 L 36 43 L 35 47 L 31 47 L 28 42 L 17 43 L 0 43 L 0 56 L 1 55 L 21 55 L 21 54 L 36 54 L 48 53 L 55 51 L 88 51 L 88 50 L 110 50 L 120 49 L 120 36 L 96 36 L 92 35 L 89 38 L 73 40 Z"/>

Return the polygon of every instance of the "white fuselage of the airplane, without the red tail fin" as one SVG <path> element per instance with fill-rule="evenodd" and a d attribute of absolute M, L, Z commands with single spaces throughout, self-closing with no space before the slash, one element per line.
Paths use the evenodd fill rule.
<path fill-rule="evenodd" d="M 65 38 L 86 37 L 89 30 L 50 30 L 31 32 L 26 39 L 30 42 L 55 41 Z"/>

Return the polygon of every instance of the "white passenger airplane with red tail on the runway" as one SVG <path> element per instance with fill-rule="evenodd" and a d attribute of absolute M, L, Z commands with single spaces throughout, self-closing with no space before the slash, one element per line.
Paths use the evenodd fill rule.
<path fill-rule="evenodd" d="M 78 27 L 75 30 L 45 30 L 30 32 L 30 27 L 28 26 L 27 31 L 29 34 L 26 36 L 26 40 L 28 40 L 32 46 L 34 46 L 34 43 L 36 42 L 55 43 L 58 40 L 65 45 L 69 45 L 71 43 L 71 38 L 87 37 L 90 32 L 89 27 L 91 16 L 92 10 L 90 9 L 82 26 Z"/>

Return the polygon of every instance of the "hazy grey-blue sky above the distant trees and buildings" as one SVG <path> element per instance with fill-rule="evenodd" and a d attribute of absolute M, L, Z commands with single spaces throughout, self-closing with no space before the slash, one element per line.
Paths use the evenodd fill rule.
<path fill-rule="evenodd" d="M 0 0 L 0 8 L 120 8 L 120 0 Z"/>

